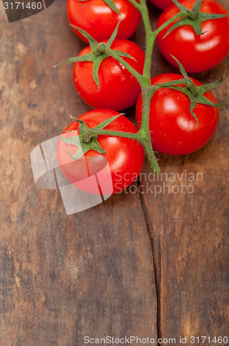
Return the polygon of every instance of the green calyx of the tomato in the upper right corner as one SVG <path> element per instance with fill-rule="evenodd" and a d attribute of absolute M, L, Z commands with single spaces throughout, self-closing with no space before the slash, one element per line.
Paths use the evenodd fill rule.
<path fill-rule="evenodd" d="M 217 15 L 215 13 L 206 13 L 201 12 L 201 3 L 203 0 L 197 0 L 195 4 L 193 5 L 192 9 L 189 10 L 186 8 L 186 6 L 183 6 L 181 3 L 179 3 L 178 0 L 172 0 L 173 3 L 179 8 L 181 11 L 181 19 L 177 21 L 177 23 L 173 24 L 166 35 L 163 37 L 165 38 L 169 33 L 171 33 L 172 30 L 175 30 L 176 28 L 179 28 L 180 26 L 190 25 L 192 26 L 193 30 L 195 31 L 196 35 L 203 35 L 201 30 L 201 23 L 203 21 L 208 21 L 210 19 L 219 19 L 223 17 L 227 17 L 228 15 Z"/>

